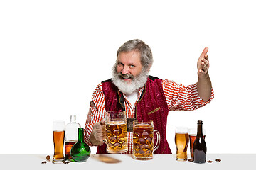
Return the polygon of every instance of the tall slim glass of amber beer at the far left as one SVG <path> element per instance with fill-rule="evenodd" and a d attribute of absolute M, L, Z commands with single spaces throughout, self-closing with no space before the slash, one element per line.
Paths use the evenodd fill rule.
<path fill-rule="evenodd" d="M 62 163 L 64 160 L 64 136 L 65 136 L 65 121 L 53 122 L 53 144 L 54 155 L 53 163 Z"/>

